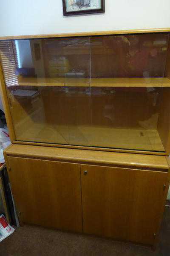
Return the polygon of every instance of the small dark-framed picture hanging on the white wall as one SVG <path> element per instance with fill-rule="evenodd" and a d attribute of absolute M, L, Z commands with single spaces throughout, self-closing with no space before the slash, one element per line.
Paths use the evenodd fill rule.
<path fill-rule="evenodd" d="M 105 0 L 62 0 L 64 16 L 105 12 Z"/>

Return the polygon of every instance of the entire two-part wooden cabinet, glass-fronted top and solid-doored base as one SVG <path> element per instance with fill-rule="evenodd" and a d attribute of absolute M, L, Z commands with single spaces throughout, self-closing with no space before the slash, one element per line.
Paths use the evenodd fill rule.
<path fill-rule="evenodd" d="M 0 38 L 0 59 L 20 222 L 155 246 L 170 182 L 170 29 Z"/>

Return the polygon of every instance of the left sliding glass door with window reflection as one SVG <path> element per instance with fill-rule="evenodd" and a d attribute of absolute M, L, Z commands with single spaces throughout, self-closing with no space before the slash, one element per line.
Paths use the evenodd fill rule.
<path fill-rule="evenodd" d="M 91 121 L 90 38 L 10 44 L 15 84 L 6 85 L 17 140 L 88 144 L 79 126 Z M 8 51 L 2 54 L 13 66 Z"/>

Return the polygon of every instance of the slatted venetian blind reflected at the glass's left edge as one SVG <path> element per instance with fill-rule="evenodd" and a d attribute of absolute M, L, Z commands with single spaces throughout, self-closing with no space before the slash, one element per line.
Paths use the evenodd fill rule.
<path fill-rule="evenodd" d="M 18 85 L 15 70 L 18 68 L 17 49 L 14 41 L 0 41 L 0 59 L 6 86 Z"/>

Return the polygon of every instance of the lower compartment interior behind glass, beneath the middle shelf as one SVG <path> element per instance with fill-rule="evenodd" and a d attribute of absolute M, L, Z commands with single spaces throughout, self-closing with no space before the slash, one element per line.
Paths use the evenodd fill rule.
<path fill-rule="evenodd" d="M 161 97 L 161 90 L 157 90 L 155 97 L 157 93 Z M 11 99 L 18 140 L 92 147 L 114 145 L 117 148 L 139 150 L 144 147 L 144 150 L 164 151 L 162 141 L 166 142 L 169 132 L 168 114 L 164 113 L 164 106 L 162 110 L 159 109 L 160 103 L 150 107 L 145 99 L 147 92 L 129 92 L 128 97 L 127 94 L 124 97 L 124 92 L 118 91 L 116 94 L 119 97 L 115 101 L 116 96 L 110 95 L 110 91 L 105 96 L 93 95 L 93 90 L 91 95 L 79 95 L 77 89 L 75 94 L 71 90 L 67 96 L 60 88 L 41 89 L 37 92 L 37 96 L 32 99 L 31 109 L 29 100 L 22 103 L 21 98 L 13 96 Z M 168 97 L 169 94 L 165 95 Z M 154 94 L 151 93 L 149 97 L 154 97 Z M 124 99 L 126 109 L 124 105 L 120 106 L 121 98 Z M 142 105 L 145 106 L 144 111 Z M 161 118 L 165 123 L 160 119 L 159 111 L 163 112 Z M 162 141 L 160 134 L 164 137 Z"/>

